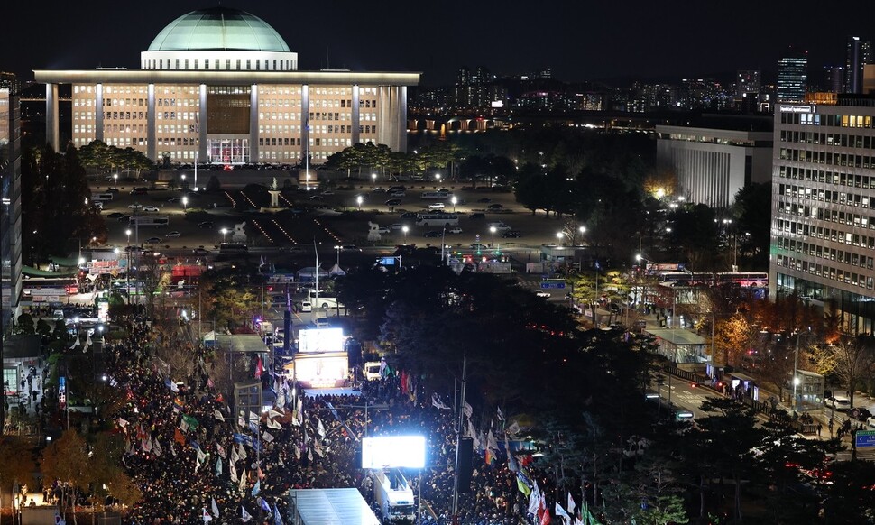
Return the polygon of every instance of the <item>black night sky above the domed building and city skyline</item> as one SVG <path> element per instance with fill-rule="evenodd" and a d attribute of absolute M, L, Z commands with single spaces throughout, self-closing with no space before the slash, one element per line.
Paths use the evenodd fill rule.
<path fill-rule="evenodd" d="M 420 71 L 429 86 L 455 83 L 462 66 L 507 75 L 548 67 L 562 80 L 613 83 L 762 69 L 765 80 L 774 81 L 778 57 L 791 43 L 808 51 L 809 78 L 819 80 L 824 64 L 843 65 L 849 34 L 875 40 L 871 2 L 223 4 L 271 24 L 299 53 L 299 69 Z M 19 3 L 14 19 L 4 23 L 7 47 L 0 70 L 31 80 L 31 69 L 138 69 L 140 51 L 166 24 L 215 5 L 189 0 Z"/>

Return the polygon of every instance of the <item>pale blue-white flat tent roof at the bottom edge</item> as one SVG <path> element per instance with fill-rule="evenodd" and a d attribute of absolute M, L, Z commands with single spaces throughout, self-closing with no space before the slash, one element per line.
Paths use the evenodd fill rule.
<path fill-rule="evenodd" d="M 380 525 L 356 488 L 292 489 L 289 499 L 305 525 Z"/>

